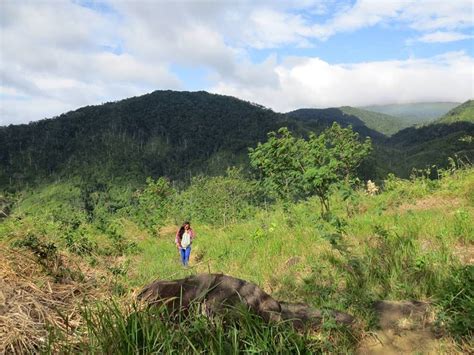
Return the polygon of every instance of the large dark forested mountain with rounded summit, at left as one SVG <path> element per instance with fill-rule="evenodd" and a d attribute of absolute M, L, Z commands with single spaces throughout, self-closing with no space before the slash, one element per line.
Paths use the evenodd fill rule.
<path fill-rule="evenodd" d="M 238 164 L 285 116 L 233 97 L 156 91 L 0 127 L 0 184 L 104 174 L 183 178 Z"/>

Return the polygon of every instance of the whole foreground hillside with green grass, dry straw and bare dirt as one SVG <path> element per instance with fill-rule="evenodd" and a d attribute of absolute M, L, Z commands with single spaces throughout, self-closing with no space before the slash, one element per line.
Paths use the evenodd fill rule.
<path fill-rule="evenodd" d="M 171 195 L 177 208 L 167 209 L 159 235 L 140 227 L 132 199 L 107 208 L 117 191 L 96 194 L 92 215 L 69 182 L 25 191 L 0 223 L 0 295 L 8 324 L 0 328 L 0 345 L 17 353 L 193 353 L 209 347 L 216 353 L 354 353 L 383 337 L 381 353 L 402 344 L 407 353 L 470 353 L 473 178 L 472 168 L 454 168 L 435 181 L 391 177 L 378 192 L 361 186 L 350 200 L 335 192 L 331 220 L 319 217 L 316 197 L 286 206 L 216 205 L 246 192 L 235 183 L 218 189 L 222 180 L 211 179 L 217 183 L 212 196 L 199 186 Z M 173 213 L 180 200 L 195 198 L 197 238 L 191 267 L 184 268 L 173 245 Z M 203 218 L 209 211 L 225 216 L 230 207 L 244 214 L 227 225 Z M 201 311 L 169 322 L 169 314 L 134 304 L 153 280 L 211 272 L 253 282 L 282 301 L 347 312 L 356 323 L 327 321 L 308 335 L 245 313 L 241 323 Z M 385 329 L 374 309 L 381 302 L 412 302 L 423 312 L 392 317 Z M 176 337 L 176 329 L 189 341 Z"/>

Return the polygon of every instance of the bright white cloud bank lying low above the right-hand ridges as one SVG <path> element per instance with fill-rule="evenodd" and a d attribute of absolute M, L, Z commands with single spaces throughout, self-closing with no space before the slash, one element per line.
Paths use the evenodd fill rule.
<path fill-rule="evenodd" d="M 374 102 L 465 101 L 474 97 L 474 58 L 463 52 L 357 64 L 289 58 L 275 66 L 274 72 L 278 86 L 250 87 L 224 80 L 212 91 L 259 102 L 277 111 Z"/>

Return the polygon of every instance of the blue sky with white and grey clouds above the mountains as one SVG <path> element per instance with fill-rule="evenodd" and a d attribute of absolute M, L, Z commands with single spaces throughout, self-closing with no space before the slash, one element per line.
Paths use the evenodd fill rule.
<path fill-rule="evenodd" d="M 0 0 L 0 126 L 154 90 L 278 112 L 474 97 L 471 0 Z"/>

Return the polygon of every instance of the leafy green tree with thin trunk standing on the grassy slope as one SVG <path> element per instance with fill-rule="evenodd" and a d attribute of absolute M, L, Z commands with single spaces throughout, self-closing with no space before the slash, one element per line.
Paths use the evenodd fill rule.
<path fill-rule="evenodd" d="M 339 182 L 350 183 L 370 150 L 369 138 L 361 143 L 351 127 L 334 123 L 320 135 L 311 134 L 308 140 L 280 128 L 268 134 L 267 142 L 250 149 L 249 157 L 272 193 L 286 201 L 316 195 L 325 215 L 329 212 L 330 189 Z"/>

